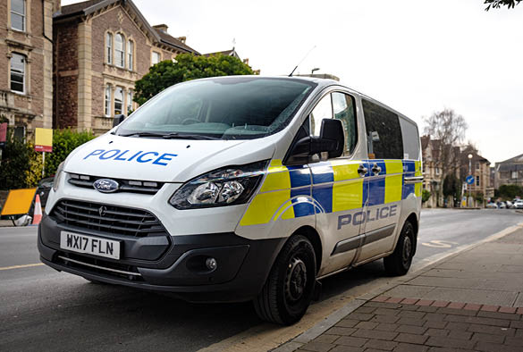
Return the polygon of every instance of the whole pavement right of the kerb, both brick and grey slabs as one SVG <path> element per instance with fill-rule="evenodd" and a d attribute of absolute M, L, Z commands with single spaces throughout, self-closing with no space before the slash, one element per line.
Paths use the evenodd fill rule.
<path fill-rule="evenodd" d="M 356 298 L 276 351 L 523 352 L 521 227 Z"/>

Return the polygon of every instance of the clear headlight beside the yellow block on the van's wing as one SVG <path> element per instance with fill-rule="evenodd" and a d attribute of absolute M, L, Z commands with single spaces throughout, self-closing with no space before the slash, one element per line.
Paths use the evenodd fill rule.
<path fill-rule="evenodd" d="M 180 210 L 247 203 L 267 164 L 268 161 L 263 161 L 208 172 L 184 183 L 169 203 Z"/>

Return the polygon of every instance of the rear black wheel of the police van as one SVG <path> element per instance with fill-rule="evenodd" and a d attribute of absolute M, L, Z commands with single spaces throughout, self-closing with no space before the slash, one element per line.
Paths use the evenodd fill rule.
<path fill-rule="evenodd" d="M 412 257 L 415 252 L 414 226 L 412 223 L 405 222 L 401 229 L 400 238 L 390 256 L 384 257 L 385 272 L 391 276 L 401 276 L 409 272 Z"/>

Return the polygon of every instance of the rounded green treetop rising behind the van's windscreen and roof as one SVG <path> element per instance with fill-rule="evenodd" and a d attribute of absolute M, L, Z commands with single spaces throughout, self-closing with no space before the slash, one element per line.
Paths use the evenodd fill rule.
<path fill-rule="evenodd" d="M 165 88 L 186 80 L 248 74 L 254 74 L 249 65 L 233 56 L 179 54 L 175 63 L 171 60 L 156 63 L 135 82 L 134 101 L 142 105 Z"/>

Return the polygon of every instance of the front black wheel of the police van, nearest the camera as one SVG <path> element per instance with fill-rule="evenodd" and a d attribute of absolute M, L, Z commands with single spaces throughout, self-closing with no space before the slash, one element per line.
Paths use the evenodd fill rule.
<path fill-rule="evenodd" d="M 306 237 L 292 236 L 276 258 L 264 288 L 254 299 L 256 313 L 266 322 L 296 323 L 307 311 L 315 285 L 314 247 Z"/>

